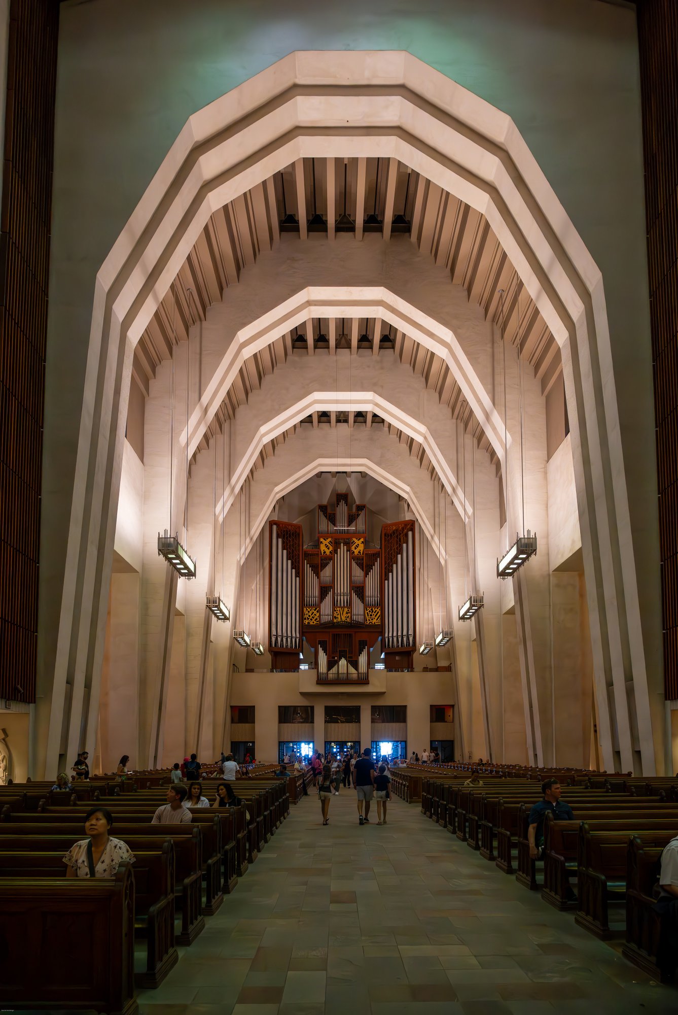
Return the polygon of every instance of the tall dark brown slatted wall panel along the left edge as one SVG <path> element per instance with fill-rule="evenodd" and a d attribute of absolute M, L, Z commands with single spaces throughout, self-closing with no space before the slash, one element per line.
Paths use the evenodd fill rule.
<path fill-rule="evenodd" d="M 10 7 L 0 219 L 0 697 L 36 700 L 59 5 Z"/>

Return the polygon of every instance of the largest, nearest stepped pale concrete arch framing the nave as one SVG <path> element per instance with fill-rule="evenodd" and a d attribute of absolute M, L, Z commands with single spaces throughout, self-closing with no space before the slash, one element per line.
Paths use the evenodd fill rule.
<path fill-rule="evenodd" d="M 193 116 L 96 279 L 45 753 L 93 742 L 133 353 L 207 218 L 306 156 L 398 158 L 482 212 L 560 345 L 599 730 L 655 770 L 633 542 L 600 271 L 509 117 L 406 53 L 295 53 Z M 626 684 L 640 749 L 634 756 Z M 85 707 L 85 687 L 88 706 Z M 618 734 L 615 754 L 612 702 Z M 655 714 L 656 716 L 656 714 Z M 661 722 L 661 717 L 660 717 Z M 535 759 L 536 760 L 536 759 Z"/>

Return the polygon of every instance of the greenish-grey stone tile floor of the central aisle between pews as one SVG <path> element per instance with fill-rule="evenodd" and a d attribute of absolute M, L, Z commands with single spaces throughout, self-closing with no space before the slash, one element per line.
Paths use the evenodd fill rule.
<path fill-rule="evenodd" d="M 141 1015 L 664 1015 L 661 987 L 610 946 L 394 800 L 355 795 L 283 822 Z M 617 950 L 615 950 L 615 947 Z M 159 1007 L 158 1007 L 159 1006 Z"/>

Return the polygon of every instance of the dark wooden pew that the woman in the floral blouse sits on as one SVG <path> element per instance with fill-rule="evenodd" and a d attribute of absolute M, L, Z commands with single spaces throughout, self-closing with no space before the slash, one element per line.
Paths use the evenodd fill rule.
<path fill-rule="evenodd" d="M 14 850 L 5 852 L 0 841 L 0 879 L 64 878 L 64 854 Z M 146 969 L 135 973 L 141 988 L 159 987 L 179 961 L 175 946 L 175 849 L 172 839 L 158 849 L 136 852 L 134 864 L 135 931 L 146 939 Z"/>

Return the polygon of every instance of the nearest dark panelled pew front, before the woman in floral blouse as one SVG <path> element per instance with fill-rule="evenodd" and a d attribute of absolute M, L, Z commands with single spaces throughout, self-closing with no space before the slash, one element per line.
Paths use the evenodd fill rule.
<path fill-rule="evenodd" d="M 78 938 L 63 961 L 59 935 Z M 91 1010 L 137 1015 L 134 878 L 0 879 L 0 997 L 6 1009 Z"/>

